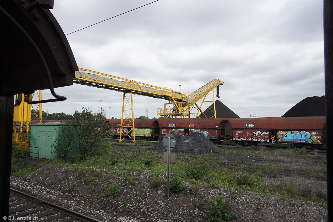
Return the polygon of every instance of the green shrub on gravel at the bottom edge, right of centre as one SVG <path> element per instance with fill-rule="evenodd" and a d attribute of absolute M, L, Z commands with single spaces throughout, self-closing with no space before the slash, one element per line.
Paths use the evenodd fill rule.
<path fill-rule="evenodd" d="M 230 201 L 224 200 L 222 195 L 209 201 L 208 222 L 229 222 L 236 219 L 230 212 Z"/>

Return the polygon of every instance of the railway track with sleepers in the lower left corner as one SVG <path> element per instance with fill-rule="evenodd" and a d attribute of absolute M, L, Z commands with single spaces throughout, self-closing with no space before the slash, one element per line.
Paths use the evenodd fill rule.
<path fill-rule="evenodd" d="M 71 206 L 62 201 L 43 200 L 23 191 L 10 188 L 9 221 L 87 221 L 101 222 L 103 217 L 92 218 L 91 212 L 81 208 L 70 210 Z M 80 213 L 79 213 L 80 212 Z"/>

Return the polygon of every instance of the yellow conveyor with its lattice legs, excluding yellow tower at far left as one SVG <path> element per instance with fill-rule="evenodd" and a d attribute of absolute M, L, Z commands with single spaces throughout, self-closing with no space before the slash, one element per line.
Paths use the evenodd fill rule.
<path fill-rule="evenodd" d="M 209 93 L 212 92 L 214 94 L 214 89 L 218 89 L 219 85 L 223 85 L 223 81 L 214 79 L 193 93 L 188 94 L 187 92 L 181 93 L 173 91 L 170 88 L 153 86 L 80 67 L 79 71 L 75 72 L 73 83 L 123 92 L 121 132 L 124 127 L 123 119 L 126 117 L 125 119 L 128 119 L 132 124 L 134 135 L 133 94 L 168 100 L 169 102 L 164 104 L 164 108 L 158 109 L 158 115 L 164 116 L 165 118 L 190 118 L 190 115 L 194 115 L 194 117 L 199 117 L 199 115 L 207 117 L 201 110 L 204 99 Z M 219 97 L 218 93 L 217 97 Z M 212 102 L 214 103 L 214 114 L 211 117 L 216 117 L 214 96 L 212 96 L 212 98 Z M 197 105 L 196 103 L 201 99 L 203 99 L 201 104 Z M 194 106 L 196 107 L 197 112 L 191 112 Z M 122 136 L 120 136 L 120 142 L 121 141 Z"/>

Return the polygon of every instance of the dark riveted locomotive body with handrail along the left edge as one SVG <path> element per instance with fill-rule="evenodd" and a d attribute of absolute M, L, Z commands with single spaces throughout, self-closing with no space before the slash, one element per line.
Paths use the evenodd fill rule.
<path fill-rule="evenodd" d="M 8 221 L 12 127 L 15 94 L 73 84 L 74 55 L 49 9 L 53 0 L 0 1 L 0 218 Z"/>

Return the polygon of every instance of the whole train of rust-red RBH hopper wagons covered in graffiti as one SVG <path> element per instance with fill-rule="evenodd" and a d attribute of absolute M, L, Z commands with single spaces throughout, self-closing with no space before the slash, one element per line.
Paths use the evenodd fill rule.
<path fill-rule="evenodd" d="M 194 119 L 135 119 L 123 120 L 122 137 L 158 140 L 167 133 L 187 136 L 202 133 L 214 143 L 235 142 L 257 145 L 264 143 L 291 143 L 321 148 L 325 143 L 325 116 L 314 117 L 265 117 L 265 118 L 194 118 Z M 105 120 L 111 135 L 119 138 L 121 120 Z M 130 132 L 131 131 L 131 132 Z M 134 132 L 133 132 L 134 131 Z M 130 132 L 130 133 L 129 133 Z"/>

